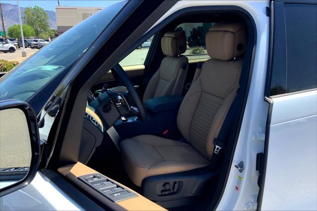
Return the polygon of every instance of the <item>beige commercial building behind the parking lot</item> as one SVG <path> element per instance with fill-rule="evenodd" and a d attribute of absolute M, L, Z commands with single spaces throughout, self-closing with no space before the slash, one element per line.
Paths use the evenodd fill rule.
<path fill-rule="evenodd" d="M 102 7 L 56 6 L 57 34 L 64 33 L 102 9 Z"/>

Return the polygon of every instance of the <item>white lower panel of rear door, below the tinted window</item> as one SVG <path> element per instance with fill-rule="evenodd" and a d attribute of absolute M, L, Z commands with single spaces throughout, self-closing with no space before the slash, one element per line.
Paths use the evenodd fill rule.
<path fill-rule="evenodd" d="M 261 210 L 317 210 L 317 90 L 271 98 Z"/>

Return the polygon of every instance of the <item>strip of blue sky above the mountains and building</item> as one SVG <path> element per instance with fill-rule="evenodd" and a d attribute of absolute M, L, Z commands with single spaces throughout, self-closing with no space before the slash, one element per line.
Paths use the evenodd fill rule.
<path fill-rule="evenodd" d="M 61 6 L 95 6 L 106 7 L 122 0 L 59 0 Z M 0 0 L 0 3 L 17 4 L 16 0 Z M 55 11 L 57 0 L 20 0 L 20 7 L 40 6 L 45 10 Z"/>

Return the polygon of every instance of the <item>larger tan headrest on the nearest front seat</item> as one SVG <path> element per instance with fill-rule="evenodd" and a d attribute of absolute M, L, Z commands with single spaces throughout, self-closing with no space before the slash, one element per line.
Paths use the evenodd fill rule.
<path fill-rule="evenodd" d="M 207 53 L 211 58 L 231 60 L 246 49 L 245 25 L 239 22 L 220 22 L 206 34 Z"/>

